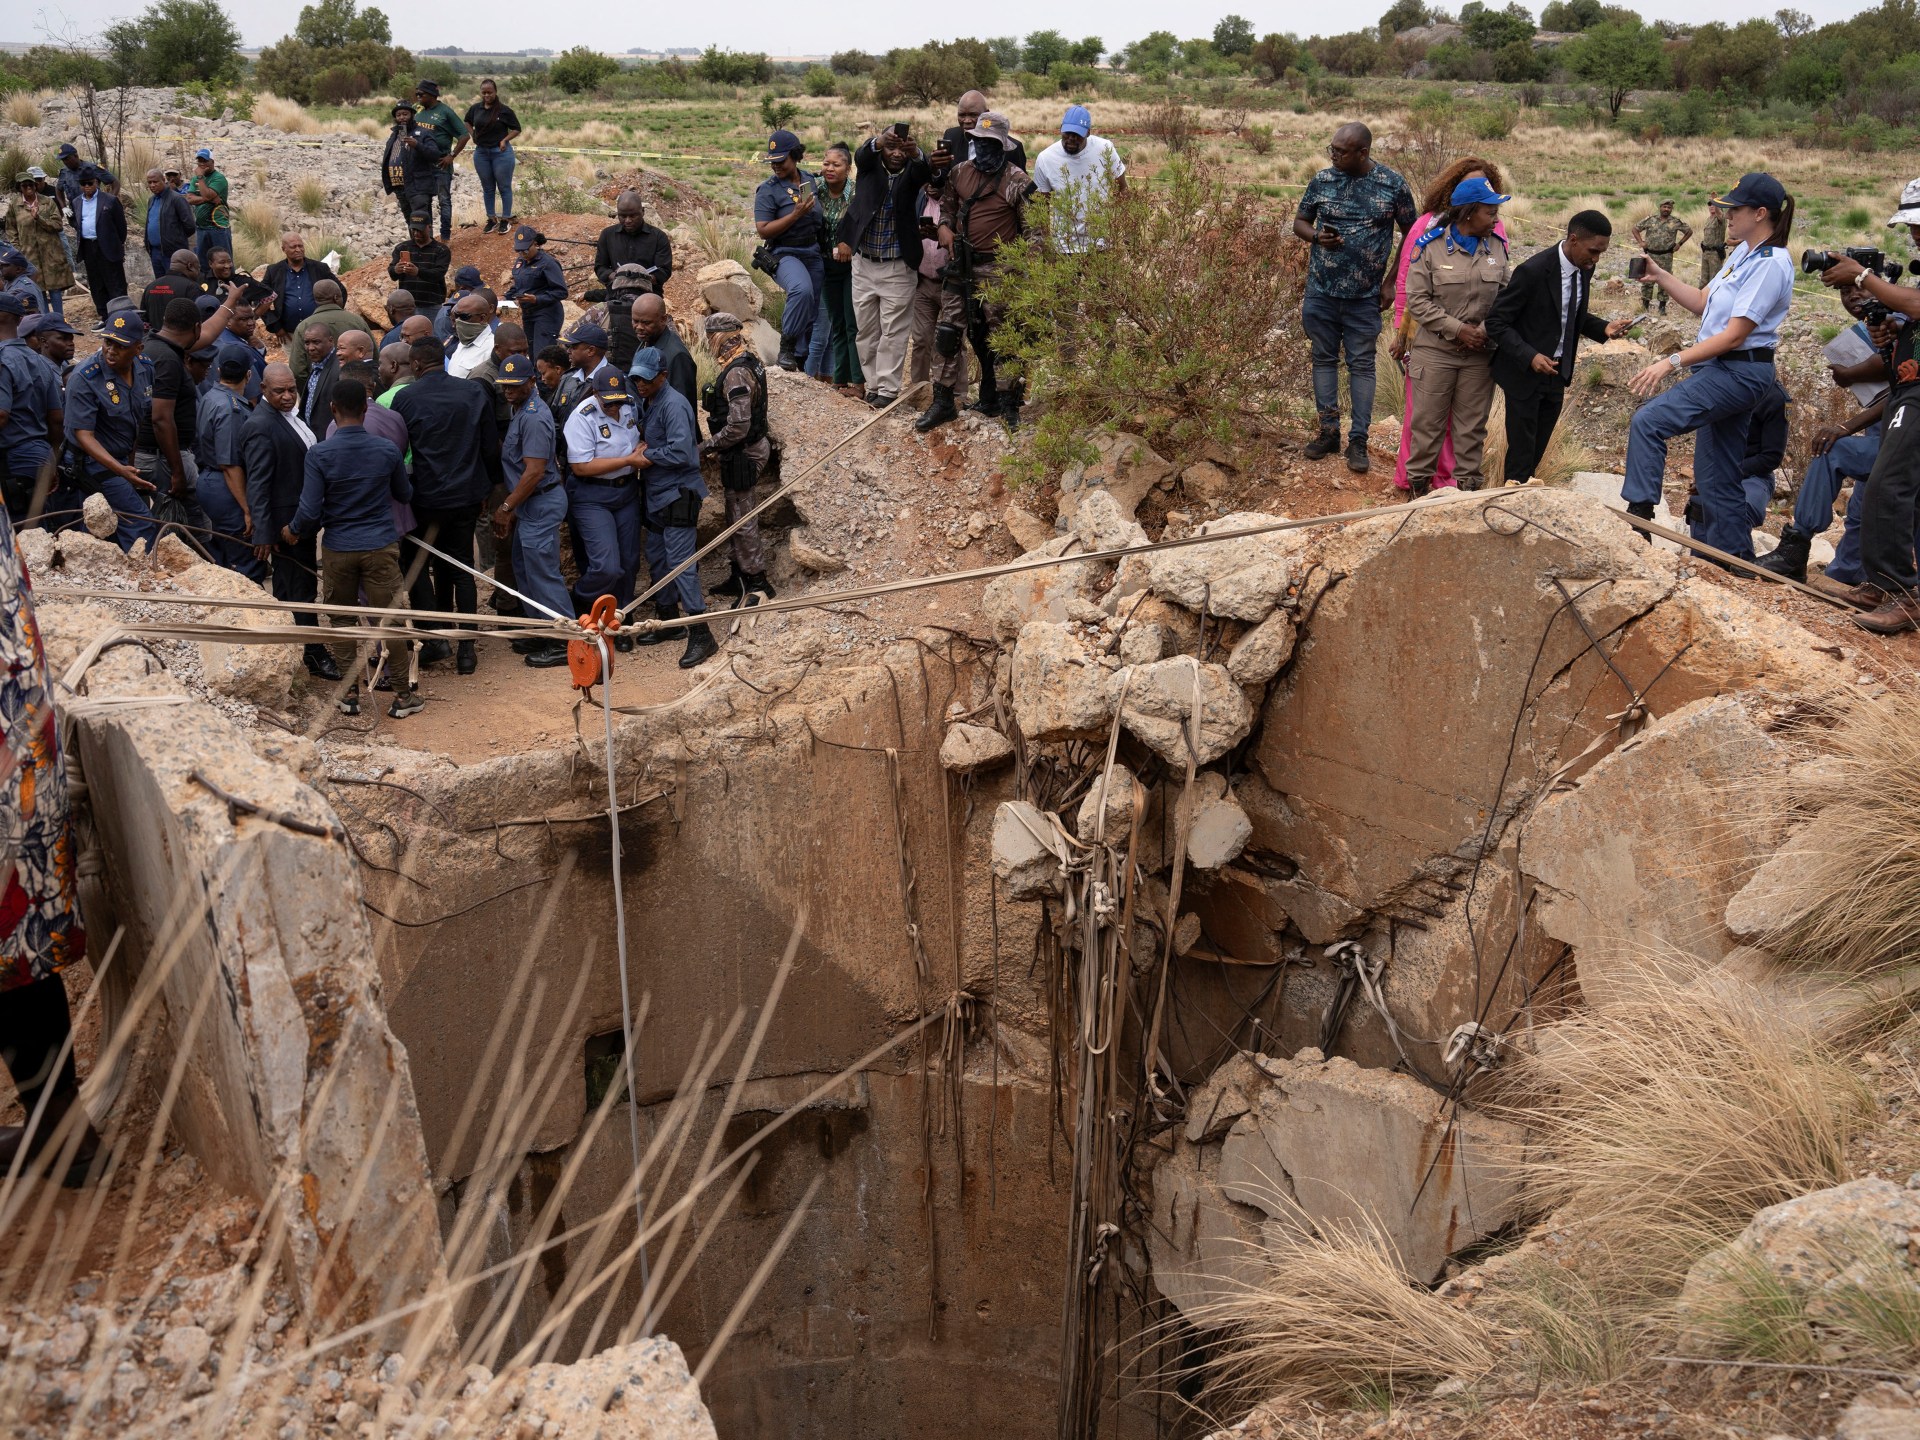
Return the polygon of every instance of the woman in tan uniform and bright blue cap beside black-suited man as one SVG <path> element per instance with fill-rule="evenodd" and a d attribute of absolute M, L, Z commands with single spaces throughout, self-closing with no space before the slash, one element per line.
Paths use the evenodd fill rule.
<path fill-rule="evenodd" d="M 1475 175 L 1453 186 L 1448 209 L 1419 236 L 1407 267 L 1407 321 L 1419 326 L 1407 346 L 1407 486 L 1415 497 L 1432 490 L 1440 447 L 1453 436 L 1453 476 L 1461 490 L 1480 488 L 1486 417 L 1494 407 L 1494 346 L 1486 313 L 1507 282 L 1507 242 L 1494 234 L 1500 194 Z"/>

